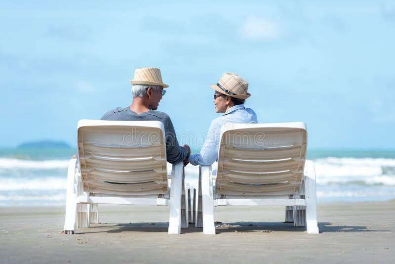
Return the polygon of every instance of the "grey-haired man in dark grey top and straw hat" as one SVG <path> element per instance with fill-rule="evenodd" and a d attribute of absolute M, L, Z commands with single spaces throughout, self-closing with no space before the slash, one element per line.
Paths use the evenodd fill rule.
<path fill-rule="evenodd" d="M 137 68 L 133 80 L 130 82 L 133 85 L 132 104 L 128 107 L 110 110 L 101 119 L 162 122 L 165 130 L 167 162 L 177 164 L 184 161 L 184 164 L 188 164 L 190 147 L 186 144 L 181 147 L 178 144 L 170 117 L 163 112 L 156 111 L 160 99 L 166 93 L 163 88 L 169 87 L 162 83 L 160 70 L 158 68 Z"/>

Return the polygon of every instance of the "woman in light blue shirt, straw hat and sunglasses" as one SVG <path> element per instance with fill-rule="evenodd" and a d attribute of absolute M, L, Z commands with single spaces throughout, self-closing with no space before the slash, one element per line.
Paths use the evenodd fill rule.
<path fill-rule="evenodd" d="M 244 101 L 251 94 L 247 92 L 248 83 L 233 73 L 224 73 L 216 85 L 211 85 L 215 90 L 215 112 L 224 113 L 211 122 L 207 137 L 200 153 L 193 154 L 188 161 L 192 165 L 211 165 L 218 157 L 218 146 L 221 127 L 231 126 L 236 123 L 258 123 L 256 114 L 251 108 L 244 107 Z"/>

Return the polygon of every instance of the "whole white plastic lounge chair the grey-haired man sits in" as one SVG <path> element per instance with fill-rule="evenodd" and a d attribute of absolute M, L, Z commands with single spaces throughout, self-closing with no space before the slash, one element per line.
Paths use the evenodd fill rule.
<path fill-rule="evenodd" d="M 78 159 L 70 160 L 67 176 L 65 233 L 98 223 L 98 204 L 128 204 L 170 206 L 168 232 L 180 234 L 188 227 L 184 166 L 172 166 L 171 175 L 167 166 L 161 122 L 80 120 Z"/>

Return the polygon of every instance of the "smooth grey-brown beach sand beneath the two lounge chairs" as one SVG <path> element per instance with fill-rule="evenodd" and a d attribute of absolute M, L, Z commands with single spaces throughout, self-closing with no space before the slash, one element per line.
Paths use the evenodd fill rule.
<path fill-rule="evenodd" d="M 216 235 L 168 235 L 168 209 L 101 205 L 101 224 L 65 235 L 62 207 L 3 207 L 0 263 L 395 263 L 395 202 L 319 205 L 316 235 L 282 207 L 217 207 Z"/>

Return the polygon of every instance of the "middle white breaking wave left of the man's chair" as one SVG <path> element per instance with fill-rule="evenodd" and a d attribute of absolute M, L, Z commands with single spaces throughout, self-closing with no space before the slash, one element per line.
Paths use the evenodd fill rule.
<path fill-rule="evenodd" d="M 67 178 L 0 178 L 0 191 L 18 190 L 66 190 Z"/>

